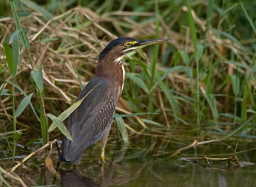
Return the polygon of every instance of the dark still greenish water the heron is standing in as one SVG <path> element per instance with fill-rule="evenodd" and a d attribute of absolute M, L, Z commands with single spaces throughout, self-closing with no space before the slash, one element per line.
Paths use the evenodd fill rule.
<path fill-rule="evenodd" d="M 228 161 L 217 160 L 207 165 L 202 159 L 204 156 L 229 158 L 236 149 L 236 138 L 185 149 L 179 154 L 173 153 L 189 146 L 195 137 L 134 135 L 130 140 L 131 145 L 125 146 L 111 137 L 106 147 L 107 163 L 103 167 L 99 163 L 100 142 L 88 147 L 81 163 L 75 167 L 68 163 L 58 166 L 54 146 L 49 158 L 60 178 L 42 165 L 42 151 L 35 156 L 38 162 L 26 161 L 22 180 L 28 186 L 256 186 L 255 165 L 228 166 Z M 33 149 L 35 151 L 35 147 Z M 17 154 L 28 154 L 28 149 L 17 147 Z M 255 141 L 240 138 L 236 155 L 240 161 L 256 163 Z M 189 160 L 193 157 L 197 159 Z M 4 160 L 1 167 L 10 170 L 10 160 Z M 19 170 L 16 172 L 19 174 Z"/>

